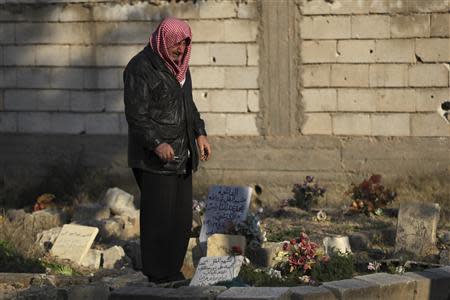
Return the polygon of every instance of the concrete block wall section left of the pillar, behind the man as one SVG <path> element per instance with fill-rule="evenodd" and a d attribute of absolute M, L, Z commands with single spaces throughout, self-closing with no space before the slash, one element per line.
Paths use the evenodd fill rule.
<path fill-rule="evenodd" d="M 193 31 L 195 102 L 212 135 L 258 135 L 254 1 L 0 2 L 0 133 L 127 134 L 122 71 L 165 16 Z"/>

